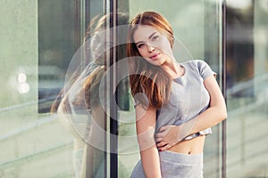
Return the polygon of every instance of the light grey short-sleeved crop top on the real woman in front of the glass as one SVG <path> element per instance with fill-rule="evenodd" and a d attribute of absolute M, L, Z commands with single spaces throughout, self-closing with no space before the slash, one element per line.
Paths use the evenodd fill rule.
<path fill-rule="evenodd" d="M 180 65 L 185 73 L 182 77 L 173 79 L 169 104 L 156 110 L 155 134 L 163 125 L 181 125 L 197 117 L 209 106 L 210 96 L 205 89 L 204 80 L 216 73 L 205 61 L 201 60 L 186 61 Z M 188 135 L 183 140 L 190 140 L 205 134 L 212 134 L 211 128 Z"/>

